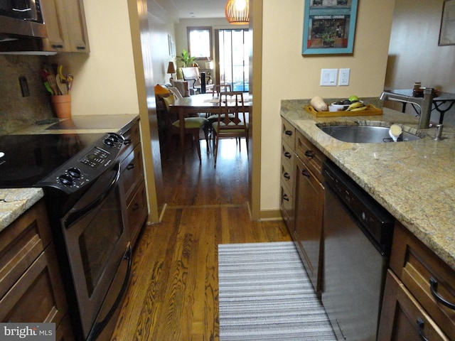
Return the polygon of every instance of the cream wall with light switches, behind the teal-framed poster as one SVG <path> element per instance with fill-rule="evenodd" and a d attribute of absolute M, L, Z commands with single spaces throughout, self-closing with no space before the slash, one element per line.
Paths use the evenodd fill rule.
<path fill-rule="evenodd" d="M 281 99 L 379 97 L 394 0 L 358 1 L 353 55 L 302 56 L 304 0 L 264 1 L 261 210 L 279 208 Z M 320 87 L 321 68 L 350 68 L 348 87 Z M 264 151 L 267 151 L 265 153 Z"/>

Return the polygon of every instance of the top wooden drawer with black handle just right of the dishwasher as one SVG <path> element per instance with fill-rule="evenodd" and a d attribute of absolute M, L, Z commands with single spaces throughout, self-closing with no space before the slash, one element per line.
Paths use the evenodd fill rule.
<path fill-rule="evenodd" d="M 455 340 L 455 271 L 399 223 L 390 267 L 441 330 Z M 436 296 L 454 307 L 447 307 Z"/>

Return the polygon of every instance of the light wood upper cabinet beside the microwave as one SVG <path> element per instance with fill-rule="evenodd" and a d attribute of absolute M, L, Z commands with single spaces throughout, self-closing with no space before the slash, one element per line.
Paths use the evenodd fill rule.
<path fill-rule="evenodd" d="M 42 0 L 48 38 L 43 50 L 89 53 L 90 47 L 82 0 Z"/>

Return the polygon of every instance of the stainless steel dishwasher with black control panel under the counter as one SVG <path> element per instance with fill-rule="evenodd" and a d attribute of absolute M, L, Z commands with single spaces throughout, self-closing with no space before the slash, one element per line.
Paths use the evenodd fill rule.
<path fill-rule="evenodd" d="M 394 219 L 331 161 L 323 163 L 321 299 L 338 340 L 376 340 Z"/>

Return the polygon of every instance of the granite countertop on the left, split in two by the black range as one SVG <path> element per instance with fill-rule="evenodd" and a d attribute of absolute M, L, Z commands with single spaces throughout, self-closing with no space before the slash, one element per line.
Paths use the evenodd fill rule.
<path fill-rule="evenodd" d="M 71 119 L 42 122 L 12 134 L 122 133 L 137 119 L 137 114 L 80 115 Z M 0 232 L 43 196 L 41 188 L 0 188 Z"/>

